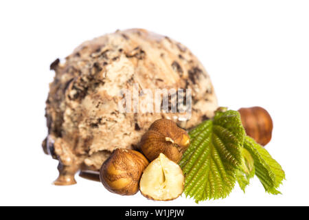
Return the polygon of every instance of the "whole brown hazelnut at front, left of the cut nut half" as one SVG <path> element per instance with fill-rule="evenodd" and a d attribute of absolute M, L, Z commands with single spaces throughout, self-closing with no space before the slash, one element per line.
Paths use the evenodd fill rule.
<path fill-rule="evenodd" d="M 138 151 L 116 148 L 100 169 L 100 180 L 110 192 L 134 195 L 148 160 Z"/>

